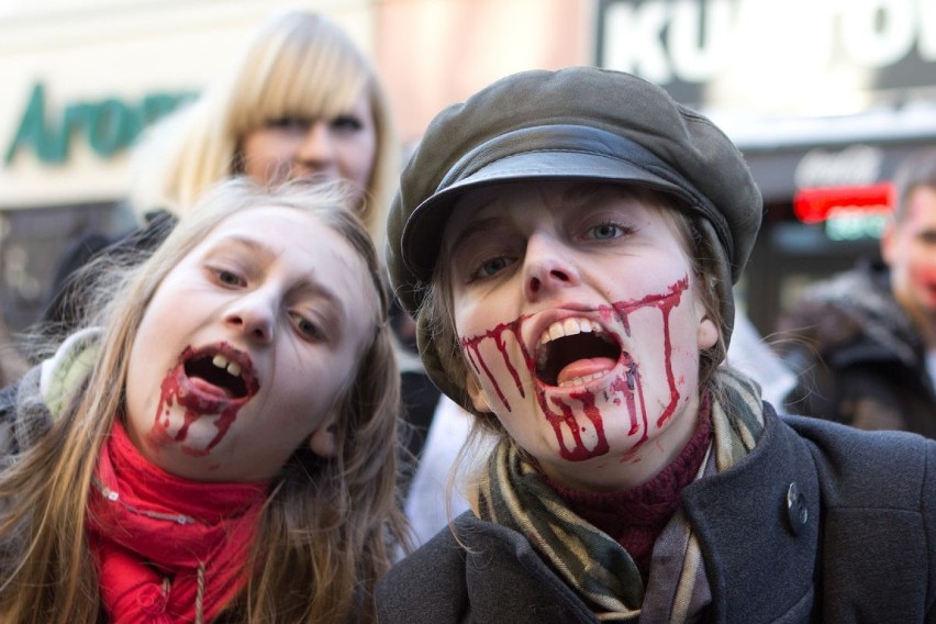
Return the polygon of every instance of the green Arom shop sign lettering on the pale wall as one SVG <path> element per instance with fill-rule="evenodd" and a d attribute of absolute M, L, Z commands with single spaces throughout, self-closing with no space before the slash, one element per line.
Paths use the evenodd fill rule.
<path fill-rule="evenodd" d="M 11 164 L 32 152 L 47 165 L 68 159 L 73 141 L 85 141 L 102 159 L 126 149 L 148 124 L 171 112 L 193 93 L 148 93 L 136 102 L 118 98 L 69 102 L 60 112 L 48 110 L 45 85 L 36 82 L 15 133 L 7 147 L 4 161 Z"/>

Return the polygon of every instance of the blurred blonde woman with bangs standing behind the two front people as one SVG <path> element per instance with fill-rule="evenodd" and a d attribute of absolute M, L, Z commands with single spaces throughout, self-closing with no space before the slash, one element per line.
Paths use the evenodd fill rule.
<path fill-rule="evenodd" d="M 346 180 L 378 248 L 399 174 L 400 146 L 372 66 L 333 21 L 308 11 L 263 23 L 232 64 L 188 105 L 148 129 L 132 155 L 129 202 L 142 227 L 79 241 L 63 258 L 43 315 L 60 333 L 81 316 L 73 271 L 105 248 L 154 249 L 214 183 Z"/>

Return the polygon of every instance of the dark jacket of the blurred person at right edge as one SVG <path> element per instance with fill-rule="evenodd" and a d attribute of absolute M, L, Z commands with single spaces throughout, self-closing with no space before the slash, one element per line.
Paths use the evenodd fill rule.
<path fill-rule="evenodd" d="M 781 319 L 775 345 L 798 375 L 789 413 L 936 439 L 925 347 L 889 280 L 885 267 L 861 266 L 813 286 Z"/>

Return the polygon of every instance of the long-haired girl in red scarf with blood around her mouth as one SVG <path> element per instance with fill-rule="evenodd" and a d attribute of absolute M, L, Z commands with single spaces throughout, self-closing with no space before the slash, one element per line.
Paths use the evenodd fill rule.
<path fill-rule="evenodd" d="M 404 531 L 374 245 L 343 189 L 200 201 L 90 269 L 100 314 L 2 413 L 4 622 L 374 620 Z"/>

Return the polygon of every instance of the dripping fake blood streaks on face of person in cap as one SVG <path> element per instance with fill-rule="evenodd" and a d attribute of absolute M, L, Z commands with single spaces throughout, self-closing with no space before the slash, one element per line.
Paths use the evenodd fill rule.
<path fill-rule="evenodd" d="M 679 402 L 679 391 L 677 389 L 672 371 L 672 342 L 669 319 L 670 312 L 679 304 L 682 293 L 688 288 L 689 278 L 684 277 L 672 283 L 667 289 L 667 292 L 648 294 L 643 299 L 635 301 L 616 302 L 611 307 L 602 307 L 598 310 L 599 314 L 605 322 L 609 322 L 614 317 L 620 319 L 624 327 L 624 333 L 628 336 L 631 335 L 629 315 L 632 313 L 637 310 L 648 308 L 656 308 L 660 311 L 664 325 L 661 346 L 666 363 L 666 377 L 669 387 L 670 400 L 660 411 L 659 416 L 657 416 L 657 427 L 662 426 L 672 416 Z M 508 354 L 504 336 L 509 334 L 513 335 L 513 342 L 520 346 L 523 364 L 530 371 L 531 377 L 535 379 L 535 356 L 527 349 L 526 344 L 522 339 L 523 323 L 528 319 L 530 315 L 524 315 L 510 323 L 502 323 L 494 328 L 489 330 L 484 334 L 472 337 L 463 337 L 460 339 L 461 349 L 471 367 L 478 375 L 486 377 L 490 381 L 498 399 L 509 412 L 512 411 L 510 402 L 501 388 L 499 380 L 495 378 L 494 374 L 491 372 L 491 367 L 488 366 L 488 363 L 481 355 L 481 346 L 484 344 L 484 341 L 493 341 L 494 347 L 500 354 L 504 368 L 509 372 L 511 379 L 513 379 L 516 392 L 521 398 L 525 398 L 526 392 L 523 388 L 520 372 L 511 361 Z M 609 401 L 613 401 L 617 404 L 620 404 L 620 400 L 614 399 L 614 397 L 623 397 L 624 403 L 627 406 L 627 413 L 631 417 L 628 435 L 636 435 L 637 433 L 640 433 L 642 435 L 640 439 L 637 441 L 637 445 L 634 446 L 634 448 L 637 448 L 637 446 L 647 439 L 647 431 L 649 428 L 649 416 L 647 414 L 647 406 L 644 397 L 644 383 L 639 367 L 631 358 L 629 354 L 622 354 L 621 364 L 624 369 L 623 377 L 615 378 L 609 386 L 605 386 L 605 388 L 600 391 L 605 393 L 605 398 Z M 550 401 L 547 400 L 546 395 L 547 390 L 548 388 L 543 385 L 537 385 L 535 388 L 536 398 L 543 413 L 553 426 L 556 439 L 559 443 L 560 455 L 570 461 L 582 461 L 608 453 L 610 450 L 610 446 L 604 433 L 605 416 L 601 413 L 601 409 L 597 405 L 594 393 L 582 389 L 580 391 L 572 391 L 568 393 L 567 397 L 553 395 L 550 397 Z M 593 434 L 589 436 L 592 441 L 591 444 L 588 444 L 586 442 L 586 436 L 582 435 L 588 431 L 588 428 L 587 426 L 578 424 L 578 413 L 584 415 L 593 428 Z M 568 432 L 568 436 L 564 434 L 564 431 Z"/>

